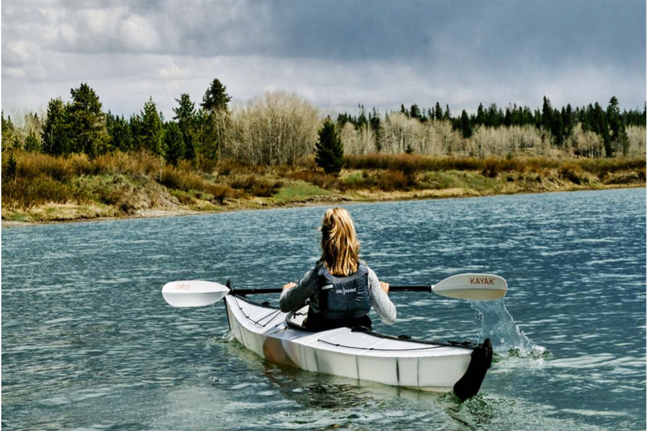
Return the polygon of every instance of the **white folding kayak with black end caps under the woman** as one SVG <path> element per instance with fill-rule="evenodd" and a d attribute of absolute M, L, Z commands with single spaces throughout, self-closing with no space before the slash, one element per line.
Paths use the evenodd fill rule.
<path fill-rule="evenodd" d="M 492 363 L 492 344 L 412 340 L 348 327 L 303 327 L 308 306 L 283 313 L 232 291 L 224 296 L 229 329 L 242 345 L 272 363 L 384 385 L 475 396 Z"/>

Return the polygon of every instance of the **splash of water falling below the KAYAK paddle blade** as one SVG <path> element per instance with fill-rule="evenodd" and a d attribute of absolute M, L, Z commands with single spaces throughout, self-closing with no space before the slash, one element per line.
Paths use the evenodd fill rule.
<path fill-rule="evenodd" d="M 481 316 L 479 340 L 490 338 L 497 354 L 518 358 L 544 358 L 550 354 L 517 327 L 504 300 L 470 301 L 470 305 Z"/>

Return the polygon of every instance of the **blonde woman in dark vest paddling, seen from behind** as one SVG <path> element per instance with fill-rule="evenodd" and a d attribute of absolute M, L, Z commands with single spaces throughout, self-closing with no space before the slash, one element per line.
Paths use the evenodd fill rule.
<path fill-rule="evenodd" d="M 387 295 L 389 284 L 380 282 L 359 259 L 360 241 L 348 211 L 326 211 L 321 250 L 321 259 L 299 283 L 283 286 L 281 311 L 294 311 L 310 300 L 305 327 L 317 331 L 346 326 L 370 328 L 371 306 L 385 324 L 396 321 L 396 307 Z"/>

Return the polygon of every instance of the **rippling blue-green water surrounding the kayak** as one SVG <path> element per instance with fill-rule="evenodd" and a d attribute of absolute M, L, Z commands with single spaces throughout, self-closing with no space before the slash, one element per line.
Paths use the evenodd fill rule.
<path fill-rule="evenodd" d="M 489 304 L 393 293 L 398 322 L 376 325 L 490 337 L 477 397 L 277 367 L 232 339 L 222 304 L 163 301 L 177 279 L 298 279 L 324 208 L 70 223 L 2 230 L 3 430 L 646 428 L 644 189 L 346 208 L 391 284 L 508 280 Z"/>

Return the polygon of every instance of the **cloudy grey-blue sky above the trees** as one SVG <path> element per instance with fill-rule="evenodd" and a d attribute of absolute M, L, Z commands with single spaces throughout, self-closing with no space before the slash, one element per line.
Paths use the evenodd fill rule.
<path fill-rule="evenodd" d="M 235 102 L 285 90 L 324 113 L 646 100 L 644 0 L 4 0 L 2 108 L 45 109 L 87 82 L 166 118 L 214 78 Z"/>

